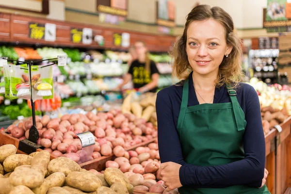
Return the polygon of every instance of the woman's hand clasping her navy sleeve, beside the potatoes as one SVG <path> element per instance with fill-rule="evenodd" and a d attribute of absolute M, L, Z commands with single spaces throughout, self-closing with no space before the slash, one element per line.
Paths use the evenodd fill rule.
<path fill-rule="evenodd" d="M 183 186 L 180 182 L 179 170 L 181 165 L 175 162 L 164 162 L 161 164 L 161 177 L 166 186 L 166 191 L 172 191 L 173 189 Z"/>

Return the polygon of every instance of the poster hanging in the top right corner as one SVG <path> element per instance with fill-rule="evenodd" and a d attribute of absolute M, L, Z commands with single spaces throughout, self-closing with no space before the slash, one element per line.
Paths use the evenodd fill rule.
<path fill-rule="evenodd" d="M 267 32 L 291 32 L 291 0 L 268 0 L 263 27 Z"/>

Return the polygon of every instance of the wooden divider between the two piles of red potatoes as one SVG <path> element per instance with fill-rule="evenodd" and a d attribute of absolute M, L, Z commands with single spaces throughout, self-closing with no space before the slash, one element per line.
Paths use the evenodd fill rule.
<path fill-rule="evenodd" d="M 147 142 L 143 142 L 143 143 L 137 144 L 135 146 L 131 146 L 131 147 L 127 148 L 126 151 L 135 150 L 139 146 L 147 146 L 150 143 L 153 143 L 155 140 L 156 140 L 156 138 L 154 138 L 152 140 L 149 140 Z M 97 171 L 101 171 L 101 170 L 105 169 L 105 167 L 106 167 L 105 163 L 107 161 L 113 161 L 115 158 L 116 157 L 113 156 L 113 155 L 111 155 L 111 156 L 102 156 L 100 158 L 97 158 L 97 159 L 94 159 L 94 160 L 91 160 L 91 161 L 88 161 L 88 162 L 81 163 L 80 166 L 81 166 L 81 168 L 84 168 L 86 170 L 95 169 Z"/>

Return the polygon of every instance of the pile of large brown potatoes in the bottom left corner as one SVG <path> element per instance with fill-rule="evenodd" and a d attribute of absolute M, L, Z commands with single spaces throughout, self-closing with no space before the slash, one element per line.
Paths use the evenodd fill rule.
<path fill-rule="evenodd" d="M 14 145 L 0 147 L 0 194 L 132 194 L 133 185 L 115 168 L 104 174 L 81 169 L 48 151 L 16 154 Z M 93 170 L 94 171 L 94 170 Z"/>

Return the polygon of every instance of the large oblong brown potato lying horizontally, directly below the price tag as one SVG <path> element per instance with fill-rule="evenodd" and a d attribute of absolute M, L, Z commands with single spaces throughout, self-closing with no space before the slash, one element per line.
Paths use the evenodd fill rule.
<path fill-rule="evenodd" d="M 85 192 L 94 192 L 102 186 L 102 181 L 90 172 L 70 172 L 65 182 L 74 188 Z"/>

